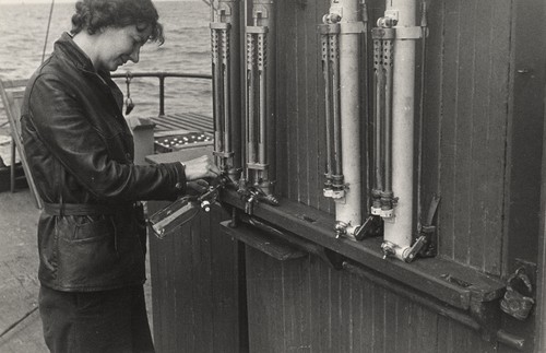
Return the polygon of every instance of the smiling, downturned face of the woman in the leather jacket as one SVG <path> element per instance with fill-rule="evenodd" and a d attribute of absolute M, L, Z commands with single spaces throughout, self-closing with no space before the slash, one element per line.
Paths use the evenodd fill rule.
<path fill-rule="evenodd" d="M 140 48 L 146 43 L 150 34 L 150 28 L 139 31 L 134 24 L 104 28 L 95 48 L 97 54 L 95 68 L 116 71 L 129 60 L 139 62 Z"/>

